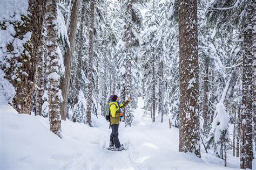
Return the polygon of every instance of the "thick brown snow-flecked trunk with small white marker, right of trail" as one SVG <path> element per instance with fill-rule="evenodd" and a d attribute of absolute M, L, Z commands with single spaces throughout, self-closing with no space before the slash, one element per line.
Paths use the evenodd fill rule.
<path fill-rule="evenodd" d="M 179 151 L 200 154 L 197 1 L 179 1 Z"/>

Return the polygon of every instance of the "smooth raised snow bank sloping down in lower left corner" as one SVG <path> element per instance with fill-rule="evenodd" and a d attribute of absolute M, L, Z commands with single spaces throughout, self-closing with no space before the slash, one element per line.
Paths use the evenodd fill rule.
<path fill-rule="evenodd" d="M 79 152 L 53 134 L 35 116 L 1 110 L 0 169 L 63 169 Z"/>

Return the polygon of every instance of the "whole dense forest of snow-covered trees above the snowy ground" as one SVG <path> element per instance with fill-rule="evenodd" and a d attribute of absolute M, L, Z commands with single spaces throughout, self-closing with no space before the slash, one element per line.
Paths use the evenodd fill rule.
<path fill-rule="evenodd" d="M 253 169 L 255 16 L 253 0 L 2 0 L 0 94 L 60 138 L 63 121 L 95 127 L 114 94 L 132 98 L 132 128 L 142 97 L 152 124 L 179 129 L 180 152 L 226 166 L 231 150 Z"/>

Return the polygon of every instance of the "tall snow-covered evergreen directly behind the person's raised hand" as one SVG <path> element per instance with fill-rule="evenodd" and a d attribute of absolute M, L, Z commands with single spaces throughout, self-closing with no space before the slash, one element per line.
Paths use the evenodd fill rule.
<path fill-rule="evenodd" d="M 138 9 L 136 1 L 122 2 L 122 8 L 125 9 L 122 13 L 123 21 L 120 26 L 125 28 L 120 34 L 118 45 L 124 47 L 124 51 L 119 55 L 122 58 L 118 61 L 119 66 L 119 93 L 121 100 L 127 100 L 132 97 L 132 102 L 129 104 L 123 112 L 125 113 L 125 126 L 131 126 L 133 114 L 132 112 L 137 107 L 137 96 L 139 88 L 139 65 L 138 65 L 138 47 L 139 47 L 139 32 L 142 26 L 142 16 Z M 117 48 L 117 52 L 118 52 Z"/>

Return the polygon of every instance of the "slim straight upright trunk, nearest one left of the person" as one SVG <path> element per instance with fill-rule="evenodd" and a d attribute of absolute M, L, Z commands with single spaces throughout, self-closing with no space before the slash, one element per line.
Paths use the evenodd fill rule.
<path fill-rule="evenodd" d="M 89 25 L 89 61 L 88 67 L 88 75 L 87 79 L 89 80 L 88 84 L 88 93 L 87 93 L 87 112 L 86 112 L 86 124 L 92 126 L 91 114 L 92 114 L 92 88 L 93 88 L 93 80 L 92 80 L 92 68 L 93 68 L 93 30 L 94 30 L 94 18 L 95 18 L 95 0 L 90 2 L 90 25 Z"/>

